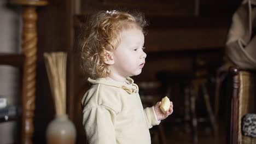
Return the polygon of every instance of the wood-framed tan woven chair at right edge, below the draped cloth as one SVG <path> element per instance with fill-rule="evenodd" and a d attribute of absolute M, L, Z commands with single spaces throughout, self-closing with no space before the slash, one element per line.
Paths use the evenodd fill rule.
<path fill-rule="evenodd" d="M 241 133 L 242 117 L 246 113 L 255 113 L 255 71 L 240 70 L 231 67 L 228 74 L 229 127 L 227 143 L 256 143 L 256 139 Z"/>

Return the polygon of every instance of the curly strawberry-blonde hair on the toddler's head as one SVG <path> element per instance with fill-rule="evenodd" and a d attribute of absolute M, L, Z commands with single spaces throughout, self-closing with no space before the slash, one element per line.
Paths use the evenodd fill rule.
<path fill-rule="evenodd" d="M 92 15 L 80 35 L 81 65 L 92 79 L 109 76 L 109 65 L 104 63 L 106 51 L 118 47 L 122 31 L 136 27 L 144 33 L 144 27 L 148 25 L 142 13 L 110 12 L 100 11 Z"/>

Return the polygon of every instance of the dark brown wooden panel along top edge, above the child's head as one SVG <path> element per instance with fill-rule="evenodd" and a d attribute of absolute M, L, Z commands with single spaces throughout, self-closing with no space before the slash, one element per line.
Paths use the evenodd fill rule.
<path fill-rule="evenodd" d="M 193 16 L 194 1 L 146 1 L 146 0 L 85 0 L 81 1 L 82 14 L 95 13 L 96 10 L 139 10 L 147 15 Z"/>

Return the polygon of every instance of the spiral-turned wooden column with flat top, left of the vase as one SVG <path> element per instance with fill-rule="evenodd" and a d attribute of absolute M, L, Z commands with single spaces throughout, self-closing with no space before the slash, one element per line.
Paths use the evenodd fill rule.
<path fill-rule="evenodd" d="M 21 142 L 31 144 L 34 132 L 34 108 L 36 98 L 37 61 L 37 12 L 38 6 L 46 5 L 43 0 L 11 0 L 12 4 L 24 6 L 22 14 L 22 53 L 25 56 L 22 76 L 22 122 Z"/>

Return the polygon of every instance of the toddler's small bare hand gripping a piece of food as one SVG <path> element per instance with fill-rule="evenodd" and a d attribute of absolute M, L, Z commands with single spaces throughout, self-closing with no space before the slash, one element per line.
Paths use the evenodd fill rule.
<path fill-rule="evenodd" d="M 170 104 L 170 108 L 169 110 L 166 111 L 166 113 L 163 113 L 160 109 L 160 105 L 161 105 L 161 101 L 158 101 L 158 103 L 156 103 L 154 105 L 154 109 L 155 109 L 155 115 L 156 117 L 158 118 L 158 121 L 161 121 L 162 119 L 165 119 L 167 118 L 168 116 L 170 116 L 173 112 L 173 104 L 172 104 L 172 101 L 171 101 L 171 104 Z"/>

